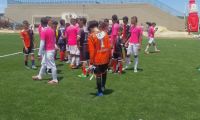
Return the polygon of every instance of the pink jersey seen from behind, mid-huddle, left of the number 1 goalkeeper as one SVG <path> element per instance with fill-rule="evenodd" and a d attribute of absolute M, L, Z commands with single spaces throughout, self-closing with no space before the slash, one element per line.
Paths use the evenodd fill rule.
<path fill-rule="evenodd" d="M 78 30 L 79 28 L 77 26 L 70 25 L 67 27 L 65 31 L 65 36 L 68 39 L 68 45 L 73 46 L 77 45 L 77 35 L 78 35 Z"/>

